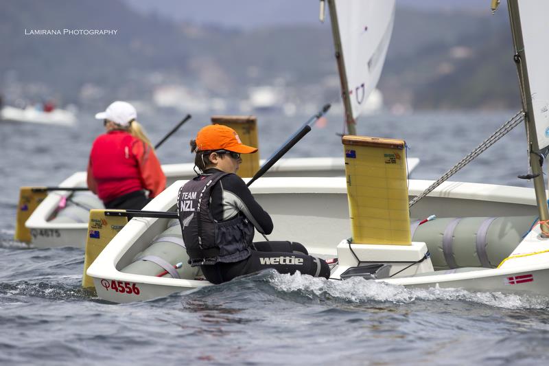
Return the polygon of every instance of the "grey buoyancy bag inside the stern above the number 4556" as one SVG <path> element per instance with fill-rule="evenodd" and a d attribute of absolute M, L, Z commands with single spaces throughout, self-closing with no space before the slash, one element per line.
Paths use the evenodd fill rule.
<path fill-rule="evenodd" d="M 183 279 L 200 277 L 200 267 L 191 268 L 188 260 L 179 222 L 174 218 L 168 222 L 167 229 L 152 240 L 150 247 L 136 255 L 121 272 Z M 176 268 L 178 263 L 182 264 L 180 268 Z"/>

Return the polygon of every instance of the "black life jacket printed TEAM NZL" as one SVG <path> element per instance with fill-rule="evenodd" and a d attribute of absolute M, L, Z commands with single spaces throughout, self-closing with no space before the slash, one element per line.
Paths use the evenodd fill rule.
<path fill-rule="evenodd" d="M 179 190 L 177 210 L 191 266 L 239 262 L 250 256 L 253 224 L 243 214 L 217 221 L 209 209 L 211 188 L 227 174 L 200 175 Z"/>

